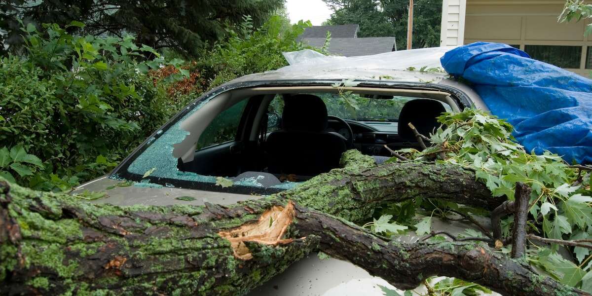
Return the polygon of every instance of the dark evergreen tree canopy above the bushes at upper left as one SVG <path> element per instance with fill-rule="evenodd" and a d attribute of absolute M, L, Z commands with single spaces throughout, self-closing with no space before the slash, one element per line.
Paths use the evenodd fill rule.
<path fill-rule="evenodd" d="M 44 0 L 38 4 L 8 0 L 0 2 L 0 31 L 8 33 L 0 35 L 0 42 L 22 43 L 18 19 L 38 28 L 42 23 L 63 27 L 81 21 L 86 24 L 85 34 L 133 34 L 138 45 L 172 47 L 197 55 L 198 49 L 226 36 L 245 16 L 259 26 L 283 5 L 282 0 Z"/>

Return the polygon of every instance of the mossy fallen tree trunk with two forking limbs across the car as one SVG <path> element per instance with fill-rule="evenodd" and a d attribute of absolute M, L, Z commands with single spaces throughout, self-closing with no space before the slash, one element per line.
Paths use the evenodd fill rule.
<path fill-rule="evenodd" d="M 484 244 L 400 244 L 349 221 L 379 202 L 443 198 L 495 208 L 470 170 L 435 163 L 345 168 L 260 200 L 223 207 L 95 205 L 0 181 L 1 294 L 244 294 L 322 250 L 400 288 L 456 276 L 515 295 L 585 294 Z"/>

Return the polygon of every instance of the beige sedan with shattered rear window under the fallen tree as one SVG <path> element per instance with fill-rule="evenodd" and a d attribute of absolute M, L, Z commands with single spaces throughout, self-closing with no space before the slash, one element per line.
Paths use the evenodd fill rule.
<path fill-rule="evenodd" d="M 106 197 L 92 202 L 115 205 L 257 199 L 339 168 L 349 149 L 377 163 L 390 159 L 391 150 L 421 150 L 409 123 L 427 135 L 439 126 L 442 112 L 464 108 L 487 110 L 469 86 L 413 67 L 247 75 L 202 95 L 109 175 L 73 194 L 104 191 Z M 470 227 L 432 222 L 433 230 L 461 233 Z M 398 239 L 419 239 L 409 233 Z M 384 288 L 395 289 L 352 263 L 311 254 L 252 295 L 383 295 Z"/>

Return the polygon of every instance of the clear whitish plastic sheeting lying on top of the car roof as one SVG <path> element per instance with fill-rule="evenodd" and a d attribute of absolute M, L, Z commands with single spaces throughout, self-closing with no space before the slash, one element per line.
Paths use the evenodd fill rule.
<path fill-rule="evenodd" d="M 372 56 L 325 56 L 314 50 L 304 49 L 298 52 L 283 53 L 289 66 L 278 71 L 294 72 L 325 69 L 390 69 L 416 70 L 442 67 L 440 58 L 453 47 L 430 47 L 426 49 L 399 50 L 374 54 Z"/>

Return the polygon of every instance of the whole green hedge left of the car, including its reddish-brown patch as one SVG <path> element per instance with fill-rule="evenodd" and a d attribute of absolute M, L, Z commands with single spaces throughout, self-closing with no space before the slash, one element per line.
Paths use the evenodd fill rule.
<path fill-rule="evenodd" d="M 253 29 L 247 17 L 228 29 L 229 40 L 184 64 L 131 36 L 73 36 L 67 27 L 30 24 L 22 28 L 25 52 L 0 63 L 0 175 L 41 190 L 96 178 L 202 90 L 287 65 L 282 52 L 306 48 L 296 38 L 308 26 L 271 17 Z M 15 160 L 13 150 L 39 161 Z"/>

